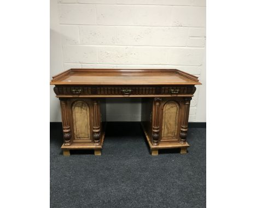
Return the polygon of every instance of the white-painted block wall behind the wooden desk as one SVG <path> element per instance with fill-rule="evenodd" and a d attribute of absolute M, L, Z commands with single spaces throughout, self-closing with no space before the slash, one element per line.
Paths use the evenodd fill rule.
<path fill-rule="evenodd" d="M 206 121 L 205 24 L 205 0 L 53 0 L 50 75 L 70 68 L 180 69 L 203 82 L 189 121 Z M 61 121 L 52 88 L 50 118 Z M 107 120 L 139 121 L 139 100 L 108 101 Z"/>

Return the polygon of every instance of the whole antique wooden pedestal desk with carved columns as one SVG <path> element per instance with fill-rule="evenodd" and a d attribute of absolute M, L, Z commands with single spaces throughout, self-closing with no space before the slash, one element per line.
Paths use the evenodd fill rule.
<path fill-rule="evenodd" d="M 63 155 L 104 141 L 106 97 L 142 97 L 142 126 L 152 155 L 159 149 L 187 153 L 188 117 L 197 77 L 176 69 L 70 69 L 53 77 L 61 104 Z"/>

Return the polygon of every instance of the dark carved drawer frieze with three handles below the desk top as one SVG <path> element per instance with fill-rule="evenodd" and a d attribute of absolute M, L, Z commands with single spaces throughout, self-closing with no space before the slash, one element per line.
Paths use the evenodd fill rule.
<path fill-rule="evenodd" d="M 145 87 L 99 87 L 59 86 L 54 87 L 56 95 L 178 95 L 194 94 L 194 86 L 145 86 Z"/>

